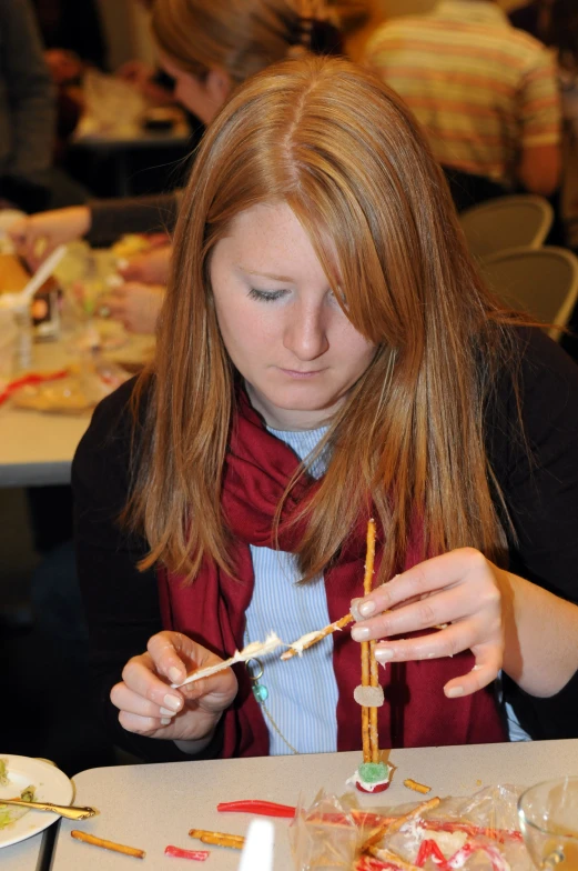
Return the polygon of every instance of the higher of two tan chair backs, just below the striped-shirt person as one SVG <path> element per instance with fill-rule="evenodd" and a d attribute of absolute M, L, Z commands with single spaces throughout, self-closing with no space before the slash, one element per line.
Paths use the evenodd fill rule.
<path fill-rule="evenodd" d="M 459 216 L 468 248 L 480 259 L 521 246 L 539 248 L 552 221 L 554 210 L 548 200 L 529 193 L 499 197 Z"/>

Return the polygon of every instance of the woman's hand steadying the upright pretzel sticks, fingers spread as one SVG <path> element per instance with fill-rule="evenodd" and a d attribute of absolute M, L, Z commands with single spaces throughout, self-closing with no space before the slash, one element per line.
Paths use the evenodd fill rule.
<path fill-rule="evenodd" d="M 352 613 L 359 622 L 352 637 L 355 641 L 388 639 L 442 627 L 416 638 L 383 641 L 376 644 L 375 658 L 386 664 L 471 650 L 473 671 L 444 687 L 448 698 L 469 695 L 491 683 L 503 665 L 507 577 L 473 548 L 434 557 L 369 595 L 354 599 Z"/>

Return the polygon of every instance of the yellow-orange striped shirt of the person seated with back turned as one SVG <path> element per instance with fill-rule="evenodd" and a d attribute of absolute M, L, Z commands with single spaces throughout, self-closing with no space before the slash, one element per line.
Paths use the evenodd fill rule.
<path fill-rule="evenodd" d="M 445 166 L 509 187 L 525 148 L 560 141 L 551 56 L 490 0 L 442 0 L 387 21 L 364 62 L 403 97 Z"/>

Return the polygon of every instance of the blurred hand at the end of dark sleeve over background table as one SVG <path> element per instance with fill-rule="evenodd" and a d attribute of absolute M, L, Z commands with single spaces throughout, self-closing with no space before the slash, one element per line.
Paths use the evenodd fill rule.
<path fill-rule="evenodd" d="M 38 269 L 59 244 L 85 236 L 91 222 L 92 214 L 88 206 L 71 206 L 21 218 L 11 226 L 9 234 L 30 269 Z"/>

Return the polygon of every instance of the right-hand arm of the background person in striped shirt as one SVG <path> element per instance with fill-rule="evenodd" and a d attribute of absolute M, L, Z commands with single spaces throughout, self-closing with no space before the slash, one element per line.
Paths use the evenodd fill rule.
<path fill-rule="evenodd" d="M 520 92 L 519 182 L 529 193 L 549 197 L 561 171 L 561 107 L 556 67 L 546 50 L 526 72 Z"/>

